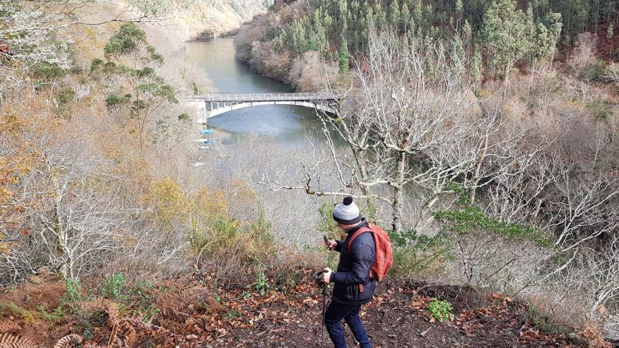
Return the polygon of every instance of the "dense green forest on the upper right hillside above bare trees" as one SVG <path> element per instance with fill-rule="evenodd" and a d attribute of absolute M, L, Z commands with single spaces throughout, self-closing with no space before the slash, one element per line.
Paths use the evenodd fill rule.
<path fill-rule="evenodd" d="M 413 34 L 426 42 L 457 37 L 459 56 L 474 60 L 478 75 L 504 77 L 513 65 L 565 58 L 577 35 L 596 34 L 613 60 L 618 24 L 615 1 L 358 1 L 278 2 L 238 35 L 238 58 L 265 75 L 297 83 L 295 65 L 316 65 L 318 56 L 347 69 L 350 56 L 362 58 L 371 30 Z M 307 53 L 307 55 L 305 55 Z M 315 86 L 314 86 L 315 88 Z"/>

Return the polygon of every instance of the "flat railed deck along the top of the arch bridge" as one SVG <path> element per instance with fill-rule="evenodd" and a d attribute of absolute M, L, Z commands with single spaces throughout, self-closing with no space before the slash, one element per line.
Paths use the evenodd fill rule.
<path fill-rule="evenodd" d="M 333 93 L 264 93 L 264 94 L 206 94 L 187 98 L 187 101 L 333 101 L 342 98 Z"/>

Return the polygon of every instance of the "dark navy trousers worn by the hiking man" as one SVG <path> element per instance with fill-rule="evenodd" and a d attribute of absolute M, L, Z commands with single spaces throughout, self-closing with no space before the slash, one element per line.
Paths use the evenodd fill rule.
<path fill-rule="evenodd" d="M 336 348 L 346 348 L 342 319 L 346 321 L 348 327 L 352 330 L 352 335 L 355 335 L 355 339 L 357 339 L 361 348 L 372 347 L 365 332 L 363 321 L 359 317 L 359 309 L 361 309 L 361 304 L 355 306 L 334 301 L 331 301 L 328 309 L 326 309 L 324 326 L 326 326 L 329 337 L 331 337 L 331 341 L 333 341 L 333 345 Z"/>

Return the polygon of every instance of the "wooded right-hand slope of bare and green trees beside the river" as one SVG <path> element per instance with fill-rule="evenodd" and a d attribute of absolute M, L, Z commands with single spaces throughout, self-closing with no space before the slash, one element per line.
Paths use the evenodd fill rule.
<path fill-rule="evenodd" d="M 238 58 L 345 93 L 322 120 L 346 146 L 269 184 L 366 198 L 404 274 L 517 293 L 615 337 L 617 16 L 613 1 L 279 2 L 240 30 Z"/>

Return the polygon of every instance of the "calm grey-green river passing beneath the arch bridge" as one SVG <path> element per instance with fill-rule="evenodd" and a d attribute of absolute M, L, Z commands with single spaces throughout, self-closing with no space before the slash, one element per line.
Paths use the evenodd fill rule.
<path fill-rule="evenodd" d="M 222 94 L 290 93 L 290 86 L 262 77 L 234 57 L 234 37 L 193 41 L 187 44 L 189 59 L 203 67 L 212 85 Z M 208 126 L 243 138 L 250 134 L 290 144 L 319 127 L 314 110 L 293 105 L 260 105 L 226 112 L 208 120 Z"/>

